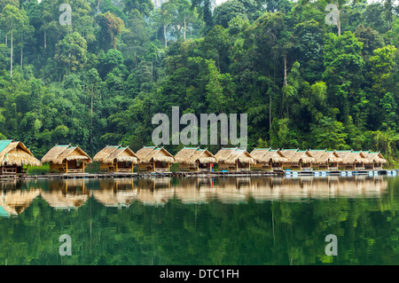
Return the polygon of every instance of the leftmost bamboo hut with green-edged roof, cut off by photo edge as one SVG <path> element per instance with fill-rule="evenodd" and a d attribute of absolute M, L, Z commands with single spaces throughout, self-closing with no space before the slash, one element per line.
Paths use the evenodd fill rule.
<path fill-rule="evenodd" d="M 27 174 L 27 167 L 41 163 L 20 141 L 0 140 L 0 175 Z"/>

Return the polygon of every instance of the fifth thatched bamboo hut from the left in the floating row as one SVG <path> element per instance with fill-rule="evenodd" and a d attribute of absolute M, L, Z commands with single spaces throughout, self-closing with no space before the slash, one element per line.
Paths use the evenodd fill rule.
<path fill-rule="evenodd" d="M 184 147 L 175 155 L 181 171 L 210 171 L 217 162 L 214 154 L 199 147 Z"/>

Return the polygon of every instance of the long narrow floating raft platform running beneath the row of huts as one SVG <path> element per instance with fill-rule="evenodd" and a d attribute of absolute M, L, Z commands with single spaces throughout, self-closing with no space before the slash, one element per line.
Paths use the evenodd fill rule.
<path fill-rule="evenodd" d="M 387 175 L 396 176 L 399 169 L 387 170 L 353 170 L 353 171 L 318 171 L 318 170 L 273 170 L 273 171 L 215 171 L 215 172 L 149 172 L 149 173 L 68 173 L 68 174 L 42 174 L 42 175 L 0 175 L 1 179 L 69 179 L 69 178 L 121 178 L 121 177 L 300 177 L 300 176 L 356 176 L 356 175 Z"/>

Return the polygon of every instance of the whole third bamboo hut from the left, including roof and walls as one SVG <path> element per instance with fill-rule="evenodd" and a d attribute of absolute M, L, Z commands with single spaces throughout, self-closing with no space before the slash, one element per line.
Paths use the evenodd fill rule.
<path fill-rule="evenodd" d="M 93 157 L 93 161 L 100 162 L 100 172 L 133 173 L 139 159 L 129 147 L 107 145 Z"/>

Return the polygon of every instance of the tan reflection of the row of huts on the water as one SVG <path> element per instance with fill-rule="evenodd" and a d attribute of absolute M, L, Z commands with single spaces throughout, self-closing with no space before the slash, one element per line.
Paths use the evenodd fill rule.
<path fill-rule="evenodd" d="M 37 197 L 52 208 L 81 207 L 93 198 L 106 207 L 129 207 L 135 201 L 163 205 L 171 199 L 186 204 L 220 200 L 325 200 L 379 198 L 387 193 L 382 176 L 356 177 L 187 177 L 55 179 L 2 182 L 0 216 L 18 216 Z"/>

